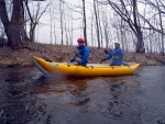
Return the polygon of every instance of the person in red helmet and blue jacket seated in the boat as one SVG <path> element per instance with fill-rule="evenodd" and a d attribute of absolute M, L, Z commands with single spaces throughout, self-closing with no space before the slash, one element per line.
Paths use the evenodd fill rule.
<path fill-rule="evenodd" d="M 88 58 L 89 58 L 89 48 L 85 46 L 84 38 L 77 40 L 78 47 L 75 56 L 70 59 L 70 63 L 77 61 L 77 65 L 87 66 Z"/>

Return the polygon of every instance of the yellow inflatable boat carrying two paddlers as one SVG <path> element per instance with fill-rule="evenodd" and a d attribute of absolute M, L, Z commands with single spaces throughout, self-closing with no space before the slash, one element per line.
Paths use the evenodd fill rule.
<path fill-rule="evenodd" d="M 44 74 L 62 74 L 74 77 L 96 77 L 96 76 L 127 76 L 132 75 L 140 64 L 130 63 L 128 66 L 109 66 L 108 64 L 88 64 L 77 66 L 75 64 L 46 61 L 36 56 L 32 56 L 36 67 Z"/>

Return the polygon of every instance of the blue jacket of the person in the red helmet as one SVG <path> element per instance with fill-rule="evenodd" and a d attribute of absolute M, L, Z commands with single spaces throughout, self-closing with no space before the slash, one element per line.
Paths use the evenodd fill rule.
<path fill-rule="evenodd" d="M 90 54 L 89 48 L 87 48 L 86 46 L 78 46 L 77 49 L 78 52 L 70 59 L 70 63 L 76 60 L 78 65 L 86 66 Z"/>

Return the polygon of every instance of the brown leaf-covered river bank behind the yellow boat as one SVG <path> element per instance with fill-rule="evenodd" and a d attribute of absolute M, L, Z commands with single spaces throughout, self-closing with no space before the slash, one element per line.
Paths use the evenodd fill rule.
<path fill-rule="evenodd" d="M 23 48 L 11 49 L 9 47 L 0 47 L 0 67 L 33 67 L 34 64 L 30 54 L 44 59 L 57 63 L 68 63 L 74 56 L 77 46 L 62 46 L 41 43 L 29 43 Z M 106 57 L 105 48 L 90 48 L 90 64 L 99 64 L 100 59 Z M 124 61 L 140 63 L 141 66 L 163 66 L 165 65 L 165 56 L 161 54 L 135 54 L 124 53 Z M 105 61 L 110 64 L 110 60 Z"/>

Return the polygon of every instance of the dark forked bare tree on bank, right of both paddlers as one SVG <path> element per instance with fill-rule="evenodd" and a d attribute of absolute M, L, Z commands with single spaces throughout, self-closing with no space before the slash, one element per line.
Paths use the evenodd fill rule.
<path fill-rule="evenodd" d="M 108 2 L 112 7 L 112 9 L 122 18 L 122 20 L 124 20 L 129 24 L 130 29 L 136 36 L 136 53 L 144 53 L 143 33 L 138 19 L 138 1 L 133 0 L 131 2 L 131 8 L 133 8 L 132 12 L 129 12 L 127 4 L 123 0 L 120 0 L 121 7 L 112 0 L 108 0 Z M 132 13 L 132 16 L 130 13 Z"/>

